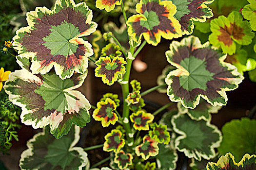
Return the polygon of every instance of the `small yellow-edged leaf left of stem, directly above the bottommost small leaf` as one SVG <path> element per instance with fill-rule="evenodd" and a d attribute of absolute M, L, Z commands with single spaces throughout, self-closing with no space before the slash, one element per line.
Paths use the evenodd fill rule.
<path fill-rule="evenodd" d="M 103 151 L 111 152 L 114 151 L 115 153 L 118 152 L 125 144 L 124 139 L 122 139 L 122 132 L 113 129 L 111 133 L 108 133 L 104 138 L 104 146 Z"/>

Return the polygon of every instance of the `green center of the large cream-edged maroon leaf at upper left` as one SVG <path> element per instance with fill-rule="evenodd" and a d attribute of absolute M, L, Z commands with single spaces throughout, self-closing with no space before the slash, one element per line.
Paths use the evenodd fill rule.
<path fill-rule="evenodd" d="M 51 50 L 51 55 L 63 55 L 67 57 L 77 51 L 78 45 L 70 43 L 69 40 L 79 35 L 79 29 L 72 23 L 64 21 L 61 25 L 53 25 L 51 33 L 43 37 L 43 45 Z"/>

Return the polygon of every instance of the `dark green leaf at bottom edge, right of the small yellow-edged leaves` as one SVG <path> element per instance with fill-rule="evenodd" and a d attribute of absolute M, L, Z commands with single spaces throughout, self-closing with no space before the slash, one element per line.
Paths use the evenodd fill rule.
<path fill-rule="evenodd" d="M 158 144 L 159 153 L 156 156 L 158 169 L 160 170 L 175 170 L 178 160 L 177 150 L 174 148 L 173 142 L 169 145 Z"/>

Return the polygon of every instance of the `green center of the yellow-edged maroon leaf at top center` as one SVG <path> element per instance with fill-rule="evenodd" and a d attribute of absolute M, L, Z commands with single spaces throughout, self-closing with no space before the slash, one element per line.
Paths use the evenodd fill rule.
<path fill-rule="evenodd" d="M 140 24 L 142 27 L 144 27 L 144 28 L 146 28 L 146 29 L 148 29 L 148 30 L 152 30 L 153 27 L 159 25 L 160 21 L 159 21 L 159 18 L 158 18 L 158 15 L 157 15 L 156 12 L 154 12 L 154 11 L 149 11 L 149 13 L 148 13 L 148 11 L 145 11 L 145 12 L 143 13 L 143 15 L 146 17 L 146 20 L 145 20 L 144 18 L 141 18 L 141 19 L 139 20 L 139 24 Z"/>

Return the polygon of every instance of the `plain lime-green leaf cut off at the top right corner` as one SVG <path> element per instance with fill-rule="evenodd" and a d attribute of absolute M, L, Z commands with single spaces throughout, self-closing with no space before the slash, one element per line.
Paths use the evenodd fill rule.
<path fill-rule="evenodd" d="M 242 15 L 245 19 L 250 21 L 252 30 L 256 31 L 256 1 L 248 0 L 249 5 L 245 5 L 242 9 Z"/>

